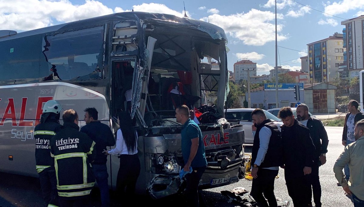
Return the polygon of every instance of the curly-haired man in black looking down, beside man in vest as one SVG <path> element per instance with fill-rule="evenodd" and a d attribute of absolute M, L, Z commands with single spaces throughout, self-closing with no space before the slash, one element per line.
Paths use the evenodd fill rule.
<path fill-rule="evenodd" d="M 283 145 L 283 166 L 288 195 L 295 207 L 312 206 L 309 174 L 313 166 L 315 146 L 310 131 L 294 119 L 290 107 L 283 107 L 278 113 L 284 125 L 281 126 Z"/>

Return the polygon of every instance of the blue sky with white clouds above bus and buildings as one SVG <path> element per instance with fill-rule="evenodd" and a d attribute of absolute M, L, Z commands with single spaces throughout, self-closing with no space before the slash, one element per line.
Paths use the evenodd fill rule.
<path fill-rule="evenodd" d="M 313 9 L 335 15 L 333 17 Z M 277 0 L 278 46 L 307 51 L 306 44 L 342 33 L 343 19 L 364 15 L 364 0 Z M 225 30 L 228 68 L 242 58 L 257 63 L 257 73 L 275 65 L 274 0 L 185 0 L 187 15 Z M 18 32 L 64 22 L 130 11 L 183 15 L 183 1 L 0 0 L 0 28 Z M 340 19 L 341 17 L 343 19 Z M 278 48 L 278 65 L 301 69 L 304 52 Z"/>

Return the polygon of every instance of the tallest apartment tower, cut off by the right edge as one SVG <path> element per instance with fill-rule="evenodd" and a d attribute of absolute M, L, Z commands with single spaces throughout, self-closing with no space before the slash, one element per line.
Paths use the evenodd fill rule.
<path fill-rule="evenodd" d="M 344 52 L 346 67 L 343 68 L 343 72 L 348 71 L 350 77 L 358 76 L 358 71 L 363 70 L 364 15 L 341 21 L 341 25 L 345 25 L 343 47 L 346 49 Z"/>

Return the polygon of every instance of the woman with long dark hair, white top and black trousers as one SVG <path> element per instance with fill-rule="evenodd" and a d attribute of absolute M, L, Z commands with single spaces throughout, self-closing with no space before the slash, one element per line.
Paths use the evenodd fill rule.
<path fill-rule="evenodd" d="M 120 167 L 116 179 L 116 192 L 120 195 L 132 196 L 140 173 L 138 158 L 138 134 L 132 126 L 132 119 L 127 112 L 119 112 L 118 124 L 120 129 L 116 132 L 116 147 L 104 151 L 106 155 L 115 155 L 120 158 Z"/>

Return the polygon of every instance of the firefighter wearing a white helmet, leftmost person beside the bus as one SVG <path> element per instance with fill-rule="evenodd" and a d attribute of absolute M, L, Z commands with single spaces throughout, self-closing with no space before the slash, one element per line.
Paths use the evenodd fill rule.
<path fill-rule="evenodd" d="M 35 163 L 39 175 L 43 199 L 48 206 L 56 206 L 57 187 L 54 158 L 50 154 L 51 138 L 58 133 L 62 125 L 59 124 L 61 104 L 56 100 L 49 100 L 44 104 L 40 124 L 35 126 Z"/>

